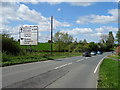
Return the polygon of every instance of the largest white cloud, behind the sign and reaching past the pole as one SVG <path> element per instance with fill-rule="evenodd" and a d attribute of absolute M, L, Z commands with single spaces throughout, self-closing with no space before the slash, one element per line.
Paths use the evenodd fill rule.
<path fill-rule="evenodd" d="M 35 11 L 34 9 L 30 9 L 24 4 L 13 3 L 13 2 L 4 2 L 2 3 L 2 10 L 0 22 L 2 22 L 2 27 L 0 28 L 0 33 L 10 34 L 12 37 L 18 39 L 19 38 L 19 25 L 12 27 L 8 26 L 8 23 L 11 21 L 29 21 L 39 26 L 39 34 L 43 36 L 41 38 L 42 41 L 47 40 L 48 35 L 41 35 L 43 31 L 50 31 L 50 17 L 44 17 L 41 13 Z M 24 24 L 23 24 L 24 25 Z M 27 23 L 26 23 L 27 25 Z M 67 22 L 59 22 L 54 19 L 54 28 L 57 27 L 69 27 L 70 24 Z"/>

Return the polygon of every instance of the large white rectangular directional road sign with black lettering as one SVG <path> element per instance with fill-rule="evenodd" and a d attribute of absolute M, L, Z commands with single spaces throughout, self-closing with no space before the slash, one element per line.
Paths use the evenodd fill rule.
<path fill-rule="evenodd" d="M 21 26 L 20 45 L 37 45 L 38 44 L 38 26 Z"/>

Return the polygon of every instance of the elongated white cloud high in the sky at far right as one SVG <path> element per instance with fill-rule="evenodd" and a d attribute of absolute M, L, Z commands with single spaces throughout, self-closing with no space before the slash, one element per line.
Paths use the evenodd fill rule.
<path fill-rule="evenodd" d="M 89 15 L 80 17 L 76 23 L 78 24 L 88 24 L 88 23 L 98 23 L 98 24 L 107 24 L 107 23 L 117 23 L 118 22 L 118 9 L 108 10 L 109 16 L 105 15 Z"/>

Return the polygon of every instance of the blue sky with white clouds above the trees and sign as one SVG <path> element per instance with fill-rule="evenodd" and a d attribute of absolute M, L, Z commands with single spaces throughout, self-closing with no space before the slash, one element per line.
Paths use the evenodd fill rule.
<path fill-rule="evenodd" d="M 55 1 L 55 0 L 53 0 Z M 117 2 L 1 2 L 0 33 L 19 39 L 19 27 L 38 25 L 39 42 L 50 40 L 50 18 L 53 33 L 64 32 L 77 41 L 99 42 L 102 34 L 118 31 Z"/>

